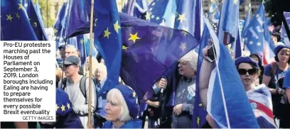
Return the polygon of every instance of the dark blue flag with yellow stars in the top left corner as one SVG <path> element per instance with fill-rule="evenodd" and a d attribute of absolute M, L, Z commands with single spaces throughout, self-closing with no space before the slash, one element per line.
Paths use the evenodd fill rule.
<path fill-rule="evenodd" d="M 1 0 L 1 31 L 1 40 L 38 40 L 18 0 Z"/>

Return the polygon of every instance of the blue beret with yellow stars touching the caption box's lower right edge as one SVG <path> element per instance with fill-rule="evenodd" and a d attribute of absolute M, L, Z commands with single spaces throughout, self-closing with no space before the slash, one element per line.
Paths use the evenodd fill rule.
<path fill-rule="evenodd" d="M 62 89 L 55 89 L 56 95 L 56 103 L 55 103 L 55 111 L 57 115 L 65 116 L 70 111 L 73 111 L 73 104 L 70 102 L 68 98 L 68 94 L 65 93 Z"/>

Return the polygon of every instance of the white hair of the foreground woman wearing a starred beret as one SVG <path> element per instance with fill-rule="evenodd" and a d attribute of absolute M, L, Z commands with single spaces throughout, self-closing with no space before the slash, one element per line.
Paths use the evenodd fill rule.
<path fill-rule="evenodd" d="M 112 103 L 117 103 L 117 101 L 119 101 L 119 105 L 121 106 L 121 111 L 119 113 L 120 121 L 124 122 L 132 119 L 124 96 L 122 95 L 121 91 L 119 91 L 119 89 L 109 90 L 107 94 L 107 99 L 111 100 Z"/>

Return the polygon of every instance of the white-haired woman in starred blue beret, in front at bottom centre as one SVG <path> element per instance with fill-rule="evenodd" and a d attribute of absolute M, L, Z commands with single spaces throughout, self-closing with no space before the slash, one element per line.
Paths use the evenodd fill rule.
<path fill-rule="evenodd" d="M 137 119 L 139 103 L 136 92 L 127 85 L 117 85 L 107 93 L 106 120 L 103 128 L 142 128 Z"/>

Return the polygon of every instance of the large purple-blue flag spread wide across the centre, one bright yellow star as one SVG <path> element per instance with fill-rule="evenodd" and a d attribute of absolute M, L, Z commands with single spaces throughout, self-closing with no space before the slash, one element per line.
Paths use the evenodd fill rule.
<path fill-rule="evenodd" d="M 199 43 L 183 30 L 159 26 L 124 13 L 120 18 L 124 43 L 120 76 L 143 98 L 169 67 Z"/>

